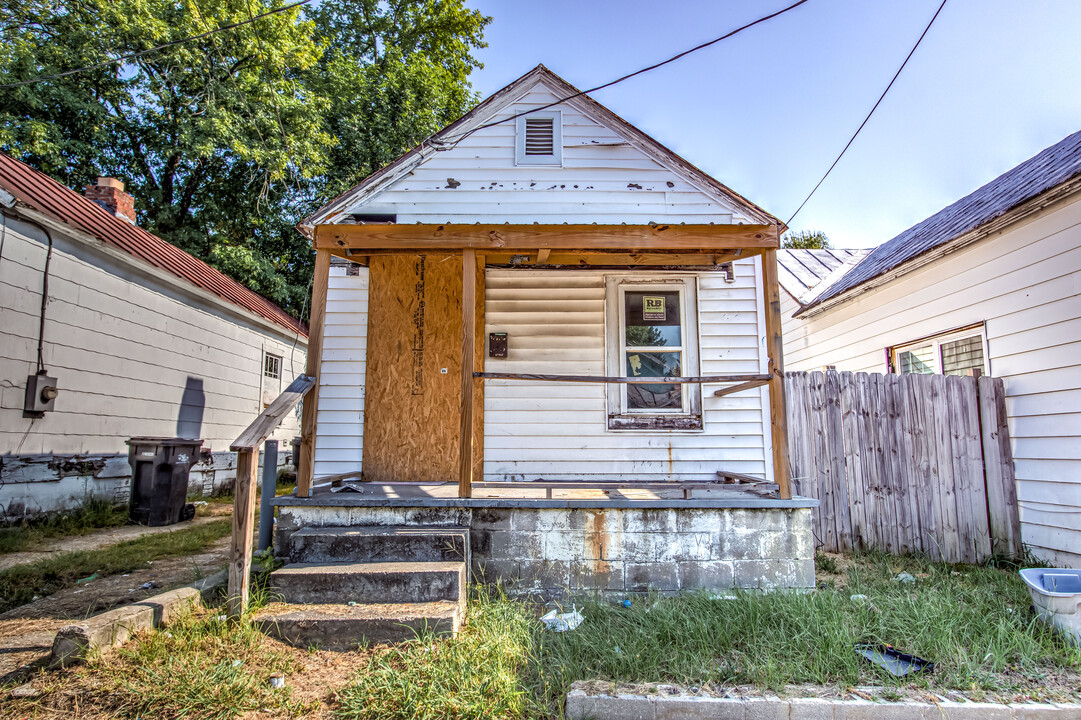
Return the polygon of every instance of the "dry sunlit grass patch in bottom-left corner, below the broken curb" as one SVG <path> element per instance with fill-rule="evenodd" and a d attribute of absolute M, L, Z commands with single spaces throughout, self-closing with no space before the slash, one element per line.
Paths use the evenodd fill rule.
<path fill-rule="evenodd" d="M 64 712 L 231 720 L 261 710 L 303 717 L 309 708 L 288 686 L 272 689 L 267 682 L 273 672 L 296 672 L 296 659 L 268 648 L 248 623 L 218 621 L 216 612 L 189 613 L 107 658 L 36 683 L 46 684 L 44 694 L 12 709 L 23 718 Z"/>

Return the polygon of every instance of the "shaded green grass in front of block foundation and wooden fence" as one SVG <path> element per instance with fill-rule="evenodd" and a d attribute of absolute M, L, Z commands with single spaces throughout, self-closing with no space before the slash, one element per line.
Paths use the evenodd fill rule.
<path fill-rule="evenodd" d="M 893 579 L 900 572 L 916 582 Z M 842 579 L 808 595 L 693 594 L 631 608 L 587 601 L 577 630 L 544 636 L 544 668 L 557 685 L 603 679 L 1002 692 L 1039 690 L 1058 669 L 1081 671 L 1081 650 L 1036 617 L 1010 570 L 876 555 L 855 558 Z M 934 661 L 936 670 L 895 678 L 858 656 L 859 642 L 894 645 Z"/>

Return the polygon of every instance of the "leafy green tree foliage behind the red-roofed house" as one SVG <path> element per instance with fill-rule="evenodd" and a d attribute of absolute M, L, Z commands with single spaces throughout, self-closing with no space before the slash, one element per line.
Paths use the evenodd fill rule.
<path fill-rule="evenodd" d="M 0 0 L 0 84 L 85 67 L 285 0 Z M 139 224 L 299 314 L 295 223 L 473 102 L 491 18 L 463 0 L 322 0 L 0 89 L 0 149 L 70 187 L 119 177 Z"/>

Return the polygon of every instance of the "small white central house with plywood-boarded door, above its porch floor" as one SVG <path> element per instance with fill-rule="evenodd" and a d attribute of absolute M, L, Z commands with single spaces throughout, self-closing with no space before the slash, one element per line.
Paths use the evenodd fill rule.
<path fill-rule="evenodd" d="M 574 97 L 561 102 L 569 96 Z M 435 232 L 438 243 L 444 223 L 448 230 L 478 223 L 495 228 L 483 230 L 491 246 L 477 250 L 484 266 L 478 280 L 483 321 L 477 369 L 518 375 L 483 384 L 476 413 L 483 415 L 477 480 L 702 481 L 716 480 L 719 470 L 773 477 L 764 387 L 715 397 L 718 384 L 663 378 L 768 373 L 763 251 L 750 244 L 732 250 L 721 232 L 740 225 L 745 232 L 760 228 L 752 242 L 775 248 L 779 222 L 539 66 L 305 222 L 317 248 L 371 265 L 371 270 L 330 271 L 317 481 L 362 470 L 369 479 L 384 477 L 373 457 L 392 455 L 400 463 L 410 453 L 419 457 L 423 445 L 433 435 L 443 437 L 444 429 L 439 452 L 457 445 L 457 415 L 448 408 L 458 403 L 454 363 L 461 361 L 454 358 L 461 358 L 462 341 L 452 325 L 435 323 L 461 322 L 453 293 L 462 283 L 462 251 L 444 257 L 439 253 L 446 251 L 432 244 L 427 259 L 418 251 L 412 266 L 390 267 L 381 259 L 386 255 L 347 251 L 344 241 L 319 242 L 334 237 L 337 227 L 377 224 Z M 715 232 L 716 244 L 703 246 L 717 254 L 689 262 L 678 254 L 681 245 L 665 250 L 660 235 L 655 245 L 640 241 L 637 246 L 660 249 L 641 256 L 632 250 L 589 255 L 557 244 L 562 228 L 568 238 L 609 235 L 618 246 L 631 231 L 645 238 L 670 227 L 675 236 L 684 225 L 688 232 Z M 534 227 L 532 250 L 503 248 L 502 231 L 529 235 Z M 547 237 L 555 238 L 551 244 Z M 677 254 L 665 262 L 658 252 Z M 377 291 L 376 267 L 379 277 L 397 284 L 381 280 Z M 451 274 L 455 268 L 457 276 Z M 648 302 L 654 309 L 643 309 Z M 387 330 L 377 336 L 371 328 Z M 408 337 L 393 339 L 400 329 Z M 631 343 L 635 331 L 652 335 Z M 384 373 L 378 382 L 375 361 Z M 522 377 L 529 374 L 655 375 L 658 382 Z M 426 394 L 415 412 L 408 404 L 410 384 L 413 397 Z M 404 398 L 387 400 L 403 387 Z M 365 395 L 371 405 L 376 392 L 385 412 L 365 414 Z M 393 426 L 385 428 L 390 418 Z M 449 466 L 431 475 L 445 480 L 456 478 L 454 472 Z"/>

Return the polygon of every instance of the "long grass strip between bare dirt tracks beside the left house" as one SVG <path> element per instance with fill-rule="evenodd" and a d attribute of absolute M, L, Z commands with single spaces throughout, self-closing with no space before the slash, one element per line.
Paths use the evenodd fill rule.
<path fill-rule="evenodd" d="M 39 562 L 0 571 L 0 612 L 26 604 L 71 587 L 81 577 L 128 573 L 147 560 L 200 552 L 232 531 L 232 520 L 223 519 L 186 530 L 144 535 L 96 550 L 65 552 Z"/>

